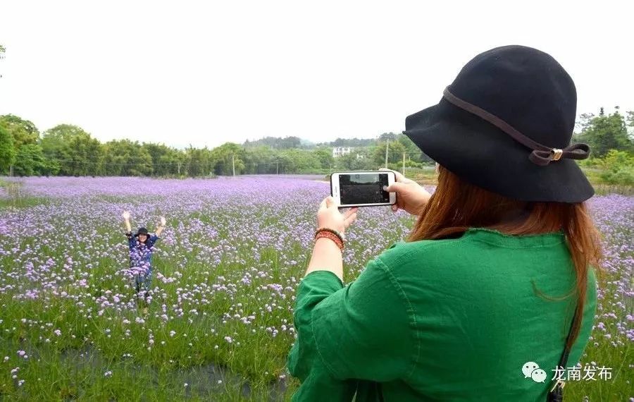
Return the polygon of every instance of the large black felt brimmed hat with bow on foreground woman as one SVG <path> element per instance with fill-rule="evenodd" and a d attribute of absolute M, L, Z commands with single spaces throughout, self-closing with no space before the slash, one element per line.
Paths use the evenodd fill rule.
<path fill-rule="evenodd" d="M 408 116 L 406 134 L 468 183 L 516 200 L 583 202 L 592 185 L 570 145 L 577 95 L 552 56 L 523 46 L 478 54 L 438 104 Z"/>

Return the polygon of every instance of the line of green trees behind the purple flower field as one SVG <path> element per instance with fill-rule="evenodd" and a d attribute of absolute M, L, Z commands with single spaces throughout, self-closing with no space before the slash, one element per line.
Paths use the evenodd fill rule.
<path fill-rule="evenodd" d="M 593 159 L 624 152 L 617 161 L 634 160 L 634 112 L 619 109 L 583 114 L 574 142 L 587 142 Z M 353 147 L 333 157 L 332 147 Z M 608 160 L 608 159 L 606 159 Z M 15 176 L 210 176 L 263 173 L 328 173 L 421 167 L 433 163 L 409 138 L 383 133 L 377 138 L 338 138 L 313 144 L 298 137 L 266 137 L 243 144 L 226 142 L 209 149 L 178 150 L 152 142 L 100 142 L 78 126 L 60 124 L 40 133 L 31 121 L 0 116 L 0 174 Z M 629 163 L 629 162 L 628 162 Z M 626 168 L 630 169 L 630 168 Z M 619 173 L 622 176 L 622 173 Z M 629 174 L 626 171 L 626 174 Z"/>

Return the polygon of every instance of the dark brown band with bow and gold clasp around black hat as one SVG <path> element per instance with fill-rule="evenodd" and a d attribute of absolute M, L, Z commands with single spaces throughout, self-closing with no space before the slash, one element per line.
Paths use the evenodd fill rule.
<path fill-rule="evenodd" d="M 563 150 L 560 150 L 559 148 L 551 148 L 547 147 L 546 145 L 542 145 L 539 142 L 535 142 L 534 140 L 528 138 L 526 135 L 520 133 L 509 123 L 506 123 L 506 121 L 502 120 L 502 118 L 490 114 L 488 111 L 485 111 L 485 109 L 475 106 L 475 104 L 470 104 L 456 97 L 451 92 L 449 92 L 449 87 L 445 88 L 445 91 L 442 92 L 442 96 L 445 97 L 445 99 L 447 99 L 447 101 L 454 106 L 458 106 L 460 109 L 463 109 L 471 114 L 475 114 L 475 116 L 483 118 L 485 121 L 488 121 L 493 126 L 496 126 L 500 130 L 504 131 L 504 133 L 510 135 L 511 138 L 513 138 L 517 142 L 533 150 L 533 152 L 530 152 L 528 159 L 530 159 L 530 162 L 533 162 L 534 164 L 546 166 L 551 161 L 558 161 L 561 158 L 586 159 L 590 154 L 590 147 L 588 146 L 588 144 L 573 144 L 565 147 Z"/>

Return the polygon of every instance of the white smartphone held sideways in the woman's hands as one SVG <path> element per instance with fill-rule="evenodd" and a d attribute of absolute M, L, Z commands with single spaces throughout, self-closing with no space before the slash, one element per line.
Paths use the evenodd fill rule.
<path fill-rule="evenodd" d="M 396 181 L 392 171 L 349 171 L 330 175 L 330 195 L 339 207 L 393 205 L 396 193 L 387 193 L 384 185 Z"/>

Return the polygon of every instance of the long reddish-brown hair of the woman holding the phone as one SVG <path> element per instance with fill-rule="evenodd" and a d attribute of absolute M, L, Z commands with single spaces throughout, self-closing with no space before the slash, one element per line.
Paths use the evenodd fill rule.
<path fill-rule="evenodd" d="M 515 217 L 515 218 L 514 218 Z M 409 241 L 449 238 L 470 227 L 488 228 L 510 235 L 563 230 L 576 271 L 576 286 L 563 298 L 577 294 L 576 319 L 568 347 L 576 341 L 583 319 L 588 267 L 601 273 L 600 235 L 584 202 L 523 202 L 467 183 L 439 166 L 438 185 L 423 208 Z"/>

